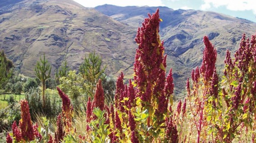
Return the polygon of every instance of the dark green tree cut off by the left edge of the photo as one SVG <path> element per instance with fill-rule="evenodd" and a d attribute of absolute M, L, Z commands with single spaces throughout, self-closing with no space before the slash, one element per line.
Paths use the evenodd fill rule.
<path fill-rule="evenodd" d="M 13 62 L 6 57 L 4 50 L 2 50 L 0 53 L 0 90 L 8 83 L 13 67 Z"/>

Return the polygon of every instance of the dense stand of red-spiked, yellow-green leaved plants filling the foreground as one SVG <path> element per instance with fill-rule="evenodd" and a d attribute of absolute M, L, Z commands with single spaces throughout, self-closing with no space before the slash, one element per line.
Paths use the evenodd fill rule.
<path fill-rule="evenodd" d="M 201 67 L 192 70 L 191 80 L 184 86 L 187 96 L 174 105 L 172 69 L 166 76 L 167 56 L 158 34 L 162 19 L 158 9 L 148 16 L 135 38 L 133 79 L 125 84 L 123 73 L 118 76 L 113 103 L 105 104 L 98 76 L 93 79 L 97 83 L 93 96 L 88 96 L 86 111 L 77 110 L 80 103 L 74 102 L 74 93 L 84 92 L 86 82 L 81 73 L 69 71 L 68 77 L 62 77 L 65 82 L 59 79 L 65 85 L 61 85 L 63 90 L 57 87 L 62 110 L 56 123 L 42 118 L 37 119 L 40 125 L 32 124 L 30 103 L 21 100 L 21 120 L 18 125 L 13 122 L 6 142 L 255 143 L 256 35 L 251 39 L 242 36 L 234 59 L 227 51 L 223 77 L 216 72 L 216 49 L 204 36 Z"/>

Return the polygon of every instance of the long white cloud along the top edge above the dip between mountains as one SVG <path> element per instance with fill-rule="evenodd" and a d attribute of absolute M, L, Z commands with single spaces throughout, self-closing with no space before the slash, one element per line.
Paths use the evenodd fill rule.
<path fill-rule="evenodd" d="M 96 7 L 103 4 L 117 6 L 164 6 L 161 0 L 74 0 L 85 7 Z"/>

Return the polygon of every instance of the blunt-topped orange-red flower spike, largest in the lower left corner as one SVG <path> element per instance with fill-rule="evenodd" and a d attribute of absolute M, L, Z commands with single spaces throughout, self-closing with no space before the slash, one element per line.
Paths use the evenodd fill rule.
<path fill-rule="evenodd" d="M 21 100 L 20 107 L 21 120 L 19 121 L 19 128 L 21 130 L 22 138 L 26 139 L 26 141 L 32 141 L 35 137 L 27 100 Z"/>

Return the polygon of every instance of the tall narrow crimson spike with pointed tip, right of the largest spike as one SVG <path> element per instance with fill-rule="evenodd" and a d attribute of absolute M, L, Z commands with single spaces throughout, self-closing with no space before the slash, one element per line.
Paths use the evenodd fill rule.
<path fill-rule="evenodd" d="M 206 82 L 210 81 L 215 68 L 217 52 L 214 46 L 210 43 L 207 36 L 204 36 L 205 49 L 203 52 L 203 61 L 200 72 L 203 74 Z"/>

